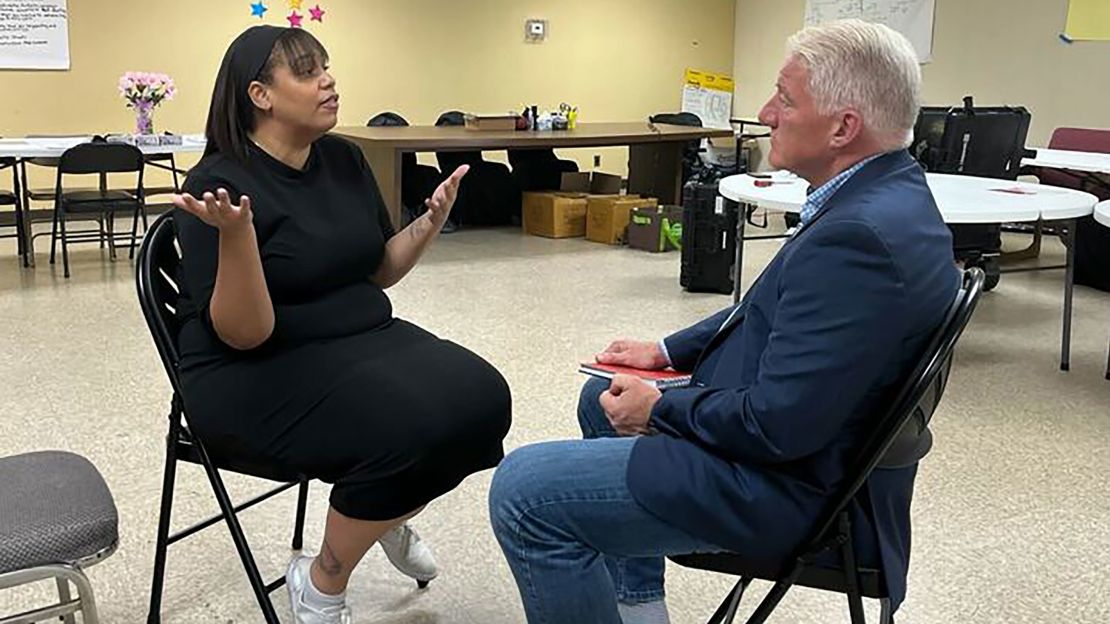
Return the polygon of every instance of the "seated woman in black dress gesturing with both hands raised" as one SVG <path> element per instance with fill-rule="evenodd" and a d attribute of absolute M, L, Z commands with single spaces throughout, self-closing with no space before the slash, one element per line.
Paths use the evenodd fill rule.
<path fill-rule="evenodd" d="M 334 483 L 321 552 L 286 575 L 297 622 L 344 622 L 347 578 L 376 542 L 435 576 L 405 521 L 502 457 L 511 400 L 480 356 L 400 319 L 384 289 L 451 212 L 461 167 L 394 232 L 339 95 L 299 29 L 254 27 L 228 50 L 208 150 L 174 199 L 184 401 L 216 454 Z"/>

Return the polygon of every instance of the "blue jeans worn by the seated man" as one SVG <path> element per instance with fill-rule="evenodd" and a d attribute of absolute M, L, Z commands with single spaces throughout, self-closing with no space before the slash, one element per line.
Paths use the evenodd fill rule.
<path fill-rule="evenodd" d="M 620 624 L 617 601 L 663 598 L 664 556 L 722 550 L 633 499 L 625 474 L 636 439 L 609 425 L 598 403 L 607 388 L 583 388 L 587 440 L 518 449 L 493 477 L 490 517 L 531 624 Z"/>

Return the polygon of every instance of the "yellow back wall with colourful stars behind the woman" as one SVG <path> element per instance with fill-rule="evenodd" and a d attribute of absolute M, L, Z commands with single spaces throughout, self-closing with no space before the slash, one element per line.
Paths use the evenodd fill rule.
<path fill-rule="evenodd" d="M 266 0 L 281 23 L 287 0 Z M 304 0 L 305 11 L 316 0 Z M 582 121 L 630 121 L 677 110 L 683 71 L 730 72 L 734 0 L 320 0 L 310 23 L 332 57 L 340 124 L 382 110 L 433 123 L 448 109 L 506 112 L 578 105 Z M 180 92 L 155 130 L 200 132 L 230 40 L 259 23 L 250 0 L 70 0 L 68 72 L 0 71 L 0 135 L 120 132 L 133 124 L 115 92 L 128 70 L 161 71 Z M 542 44 L 524 21 L 547 19 Z M 626 150 L 575 155 L 625 172 Z"/>

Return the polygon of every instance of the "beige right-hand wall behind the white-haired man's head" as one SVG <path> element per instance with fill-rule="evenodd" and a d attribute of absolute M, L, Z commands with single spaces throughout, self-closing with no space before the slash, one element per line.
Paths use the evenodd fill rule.
<path fill-rule="evenodd" d="M 1110 128 L 1110 42 L 1066 44 L 1067 0 L 936 0 L 932 62 L 924 102 L 1027 107 L 1029 143 L 1061 125 Z M 737 0 L 736 112 L 755 114 L 770 94 L 786 38 L 800 29 L 805 0 Z"/>

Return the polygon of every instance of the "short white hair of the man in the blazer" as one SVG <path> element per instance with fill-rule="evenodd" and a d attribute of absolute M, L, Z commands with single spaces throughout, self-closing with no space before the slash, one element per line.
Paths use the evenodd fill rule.
<path fill-rule="evenodd" d="M 809 70 L 809 92 L 821 114 L 855 109 L 885 149 L 910 144 L 921 68 L 906 37 L 882 24 L 842 20 L 800 30 L 786 48 Z"/>

